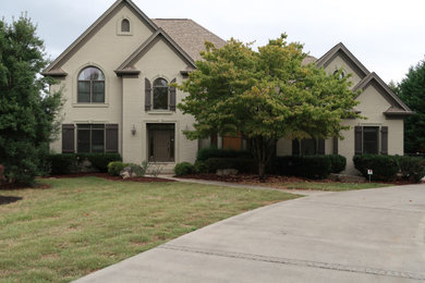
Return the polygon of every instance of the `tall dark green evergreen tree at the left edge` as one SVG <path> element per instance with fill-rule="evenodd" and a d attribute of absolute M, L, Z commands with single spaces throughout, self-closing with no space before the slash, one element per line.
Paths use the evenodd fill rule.
<path fill-rule="evenodd" d="M 26 15 L 0 21 L 0 163 L 9 182 L 34 183 L 57 130 L 61 94 L 49 94 L 44 42 Z"/>

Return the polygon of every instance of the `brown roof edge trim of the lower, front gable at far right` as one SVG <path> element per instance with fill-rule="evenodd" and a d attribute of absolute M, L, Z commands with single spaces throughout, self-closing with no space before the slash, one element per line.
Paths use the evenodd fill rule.
<path fill-rule="evenodd" d="M 353 90 L 356 91 L 359 89 L 365 89 L 369 84 L 376 83 L 380 88 L 385 99 L 389 101 L 391 104 L 387 111 L 384 112 L 386 115 L 411 115 L 413 111 L 404 104 L 403 101 L 388 87 L 388 85 L 375 73 L 369 73 L 366 77 L 364 77 L 356 86 L 354 86 Z"/>

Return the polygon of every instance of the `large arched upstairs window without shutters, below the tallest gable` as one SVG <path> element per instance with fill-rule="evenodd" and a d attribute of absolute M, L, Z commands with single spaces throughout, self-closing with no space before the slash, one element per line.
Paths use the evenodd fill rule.
<path fill-rule="evenodd" d="M 87 66 L 80 72 L 77 102 L 105 102 L 105 75 L 99 69 Z"/>

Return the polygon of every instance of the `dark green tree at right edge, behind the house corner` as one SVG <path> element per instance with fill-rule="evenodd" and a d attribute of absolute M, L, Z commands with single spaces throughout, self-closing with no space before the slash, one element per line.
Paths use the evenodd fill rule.
<path fill-rule="evenodd" d="M 404 151 L 425 152 L 425 60 L 411 66 L 398 85 L 400 98 L 415 112 L 405 120 Z"/>

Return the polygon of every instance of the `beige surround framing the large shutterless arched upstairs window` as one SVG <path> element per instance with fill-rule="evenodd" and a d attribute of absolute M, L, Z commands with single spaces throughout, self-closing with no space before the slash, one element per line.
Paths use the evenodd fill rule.
<path fill-rule="evenodd" d="M 105 101 L 104 102 L 78 102 L 78 76 L 80 73 L 89 66 L 94 66 L 99 69 L 104 73 L 105 77 Z M 108 73 L 105 71 L 104 67 L 101 67 L 99 64 L 95 62 L 87 62 L 86 64 L 82 65 L 78 70 L 76 70 L 75 74 L 72 77 L 72 107 L 73 108 L 108 108 L 109 107 L 109 76 Z"/>

